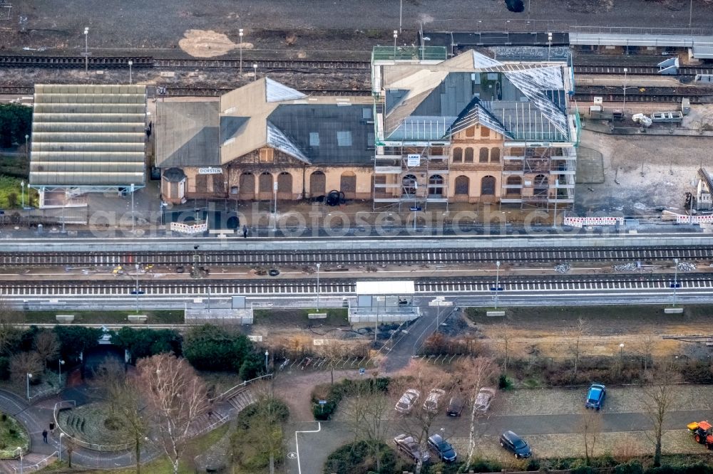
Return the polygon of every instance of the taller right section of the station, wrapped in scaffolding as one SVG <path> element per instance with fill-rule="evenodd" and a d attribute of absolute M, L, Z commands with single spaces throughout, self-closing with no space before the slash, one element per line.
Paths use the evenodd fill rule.
<path fill-rule="evenodd" d="M 371 77 L 374 207 L 572 206 L 579 121 L 568 63 L 376 47 Z"/>

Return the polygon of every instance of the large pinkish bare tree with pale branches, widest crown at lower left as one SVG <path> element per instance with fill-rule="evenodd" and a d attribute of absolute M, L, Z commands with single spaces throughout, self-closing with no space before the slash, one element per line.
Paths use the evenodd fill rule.
<path fill-rule="evenodd" d="M 208 411 L 205 383 L 185 359 L 158 354 L 140 359 L 136 368 L 139 388 L 158 428 L 158 438 L 178 474 L 190 437 L 191 421 Z"/>

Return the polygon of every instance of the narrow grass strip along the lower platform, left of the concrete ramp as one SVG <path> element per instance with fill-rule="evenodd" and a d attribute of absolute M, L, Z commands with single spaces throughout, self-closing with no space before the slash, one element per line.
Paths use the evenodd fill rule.
<path fill-rule="evenodd" d="M 182 325 L 183 310 L 147 310 L 138 313 L 131 310 L 125 311 L 77 311 L 77 310 L 44 310 L 24 311 L 21 313 L 22 321 L 29 325 L 55 324 L 56 315 L 74 315 L 73 324 L 109 324 L 109 325 L 137 325 L 140 323 L 129 322 L 128 315 L 146 315 L 147 324 L 150 325 Z"/>

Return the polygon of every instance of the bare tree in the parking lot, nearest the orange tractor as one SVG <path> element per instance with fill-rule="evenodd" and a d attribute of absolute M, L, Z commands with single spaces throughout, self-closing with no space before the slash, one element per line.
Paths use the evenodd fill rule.
<path fill-rule="evenodd" d="M 646 414 L 652 424 L 652 433 L 647 432 L 654 444 L 654 466 L 661 465 L 661 437 L 663 436 L 664 423 L 669 412 L 674 409 L 676 390 L 674 383 L 679 379 L 679 374 L 672 362 L 666 359 L 650 372 L 647 385 L 644 387 L 644 406 Z"/>

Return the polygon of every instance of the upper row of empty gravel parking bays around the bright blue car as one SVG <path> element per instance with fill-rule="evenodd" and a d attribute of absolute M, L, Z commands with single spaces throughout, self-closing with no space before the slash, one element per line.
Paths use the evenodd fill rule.
<path fill-rule="evenodd" d="M 713 406 L 713 390 L 706 385 L 681 385 L 672 411 L 707 410 Z M 586 394 L 579 389 L 520 389 L 499 392 L 492 413 L 507 415 L 579 414 Z M 643 413 L 645 397 L 640 387 L 610 387 L 605 413 Z"/>

